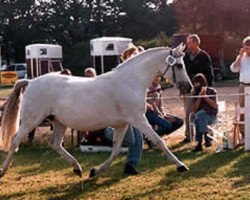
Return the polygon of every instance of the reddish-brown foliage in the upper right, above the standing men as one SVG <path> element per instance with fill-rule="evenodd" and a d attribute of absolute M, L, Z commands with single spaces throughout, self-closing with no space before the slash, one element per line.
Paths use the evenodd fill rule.
<path fill-rule="evenodd" d="M 248 0 L 174 0 L 182 32 L 249 34 Z M 237 17 L 236 17 L 237 16 Z"/>

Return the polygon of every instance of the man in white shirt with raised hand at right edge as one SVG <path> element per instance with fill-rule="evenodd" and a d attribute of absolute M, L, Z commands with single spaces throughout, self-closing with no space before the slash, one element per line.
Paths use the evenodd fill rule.
<path fill-rule="evenodd" d="M 230 68 L 232 72 L 240 73 L 239 93 L 244 93 L 245 87 L 250 87 L 250 36 L 243 40 L 243 47 L 240 49 L 239 55 Z M 244 100 L 244 95 L 240 95 L 240 107 L 245 106 Z M 244 121 L 244 115 L 240 116 L 240 120 Z M 242 134 L 244 134 L 243 125 L 240 126 L 240 131 Z"/>

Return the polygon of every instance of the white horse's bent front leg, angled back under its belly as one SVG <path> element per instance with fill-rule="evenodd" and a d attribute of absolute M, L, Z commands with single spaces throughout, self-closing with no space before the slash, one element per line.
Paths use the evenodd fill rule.
<path fill-rule="evenodd" d="M 101 173 L 102 171 L 104 171 L 112 163 L 112 161 L 119 155 L 122 141 L 127 128 L 128 125 L 115 128 L 115 132 L 113 135 L 113 149 L 110 157 L 98 169 L 96 168 L 91 169 L 89 173 L 89 178 L 92 178 L 97 174 Z"/>

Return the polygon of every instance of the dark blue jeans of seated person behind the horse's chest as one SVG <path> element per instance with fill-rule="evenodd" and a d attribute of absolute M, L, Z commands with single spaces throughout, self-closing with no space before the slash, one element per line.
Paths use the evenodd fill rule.
<path fill-rule="evenodd" d="M 168 114 L 169 115 L 169 114 Z M 178 128 L 180 128 L 183 125 L 183 120 L 170 115 L 171 117 L 173 117 L 175 119 L 174 122 L 171 122 L 165 118 L 162 118 L 160 115 L 158 115 L 158 113 L 153 112 L 153 111 L 147 111 L 146 112 L 146 117 L 148 119 L 148 122 L 151 126 L 155 126 L 157 125 L 157 134 L 159 136 L 163 136 L 165 134 L 170 134 L 172 132 L 174 132 L 175 130 L 177 130 Z"/>

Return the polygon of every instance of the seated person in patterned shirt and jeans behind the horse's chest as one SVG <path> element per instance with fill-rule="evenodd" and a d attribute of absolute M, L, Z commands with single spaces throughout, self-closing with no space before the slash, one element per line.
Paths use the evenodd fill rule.
<path fill-rule="evenodd" d="M 177 116 L 164 112 L 162 104 L 161 75 L 158 74 L 147 92 L 147 112 L 148 122 L 156 127 L 159 136 L 168 135 L 183 125 L 183 120 Z M 151 146 L 150 142 L 148 143 Z"/>

